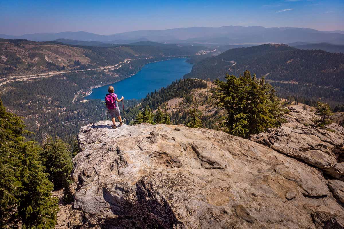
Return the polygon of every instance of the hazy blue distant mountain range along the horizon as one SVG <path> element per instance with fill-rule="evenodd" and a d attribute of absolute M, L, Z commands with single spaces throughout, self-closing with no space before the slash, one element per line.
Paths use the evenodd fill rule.
<path fill-rule="evenodd" d="M 28 39 L 30 41 L 54 41 L 56 39 L 72 39 L 78 41 L 98 41 L 103 43 L 126 44 L 140 41 L 160 43 L 203 43 L 203 44 L 262 44 L 327 42 L 344 44 L 343 31 L 318 31 L 310 28 L 262 26 L 222 26 L 222 27 L 190 27 L 168 30 L 140 30 L 113 35 L 98 35 L 84 31 L 61 33 L 36 33 L 22 36 L 0 34 L 0 38 Z"/>

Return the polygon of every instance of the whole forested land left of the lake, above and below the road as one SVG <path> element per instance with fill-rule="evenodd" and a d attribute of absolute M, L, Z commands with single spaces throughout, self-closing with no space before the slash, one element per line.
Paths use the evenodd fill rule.
<path fill-rule="evenodd" d="M 208 48 L 151 42 L 94 47 L 0 39 L 0 76 L 12 76 L 0 82 L 0 97 L 9 111 L 25 117 L 36 140 L 51 134 L 72 144 L 80 126 L 106 119 L 104 104 L 100 100 L 83 101 L 83 94 L 130 77 L 148 63 L 202 50 Z M 51 71 L 54 75 L 13 78 Z M 3 82 L 6 84 L 1 85 Z M 139 101 L 125 103 L 127 107 Z"/>

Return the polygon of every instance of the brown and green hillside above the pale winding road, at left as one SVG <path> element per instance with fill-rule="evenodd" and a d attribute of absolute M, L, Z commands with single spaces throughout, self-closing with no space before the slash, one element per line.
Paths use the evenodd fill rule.
<path fill-rule="evenodd" d="M 93 47 L 67 45 L 61 42 L 0 39 L 0 78 L 51 71 L 93 69 L 116 65 L 125 59 L 190 56 L 201 50 L 208 48 L 151 43 Z"/>

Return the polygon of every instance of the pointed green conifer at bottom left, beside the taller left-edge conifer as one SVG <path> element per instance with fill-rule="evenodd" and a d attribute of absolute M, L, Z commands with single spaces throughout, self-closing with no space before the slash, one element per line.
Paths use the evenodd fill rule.
<path fill-rule="evenodd" d="M 22 229 L 54 228 L 58 212 L 57 198 L 51 198 L 53 184 L 47 179 L 39 160 L 42 148 L 35 142 L 25 142 L 20 174 L 22 183 L 18 215 Z"/>

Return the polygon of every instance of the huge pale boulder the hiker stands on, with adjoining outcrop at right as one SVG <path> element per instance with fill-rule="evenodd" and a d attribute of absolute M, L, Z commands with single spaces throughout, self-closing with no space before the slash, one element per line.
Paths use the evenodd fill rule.
<path fill-rule="evenodd" d="M 299 113 L 290 115 L 292 122 L 308 122 L 313 115 L 293 111 Z M 272 136 L 288 139 L 280 148 L 182 125 L 114 130 L 98 122 L 82 127 L 82 152 L 73 159 L 72 178 L 78 186 L 74 207 L 80 210 L 73 226 L 344 228 L 344 182 L 336 179 L 343 178 L 336 168 L 342 165 L 337 158 L 344 129 L 332 124 L 338 132 L 332 133 L 299 122 L 288 125 L 252 136 L 264 144 Z M 289 139 L 293 133 L 298 142 Z M 308 151 L 326 154 L 323 159 L 310 163 L 311 153 L 299 157 L 296 151 L 307 152 L 299 150 L 307 145 L 301 139 L 309 141 Z M 287 153 L 291 149 L 297 156 Z M 323 171 L 332 176 L 325 178 Z"/>

